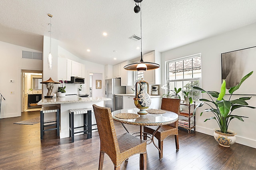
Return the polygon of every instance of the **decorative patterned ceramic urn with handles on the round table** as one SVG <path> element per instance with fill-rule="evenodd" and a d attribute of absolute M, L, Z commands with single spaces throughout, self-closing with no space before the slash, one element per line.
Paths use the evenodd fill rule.
<path fill-rule="evenodd" d="M 136 82 L 135 84 L 134 104 L 138 109 L 140 109 L 140 111 L 138 111 L 138 114 L 141 116 L 148 114 L 146 109 L 148 109 L 151 104 L 151 98 L 148 94 L 148 89 L 148 82 L 143 79 Z"/>

